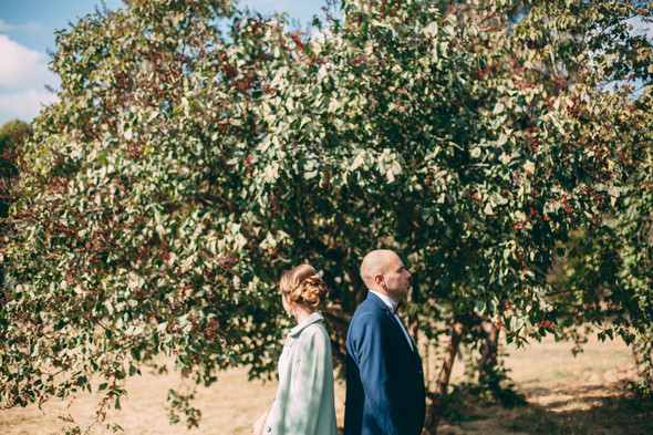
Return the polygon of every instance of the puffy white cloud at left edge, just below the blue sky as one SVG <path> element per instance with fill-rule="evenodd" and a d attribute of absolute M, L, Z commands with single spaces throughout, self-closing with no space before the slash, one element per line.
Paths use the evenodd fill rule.
<path fill-rule="evenodd" d="M 27 90 L 56 82 L 44 53 L 28 49 L 4 34 L 0 34 L 0 87 Z"/>

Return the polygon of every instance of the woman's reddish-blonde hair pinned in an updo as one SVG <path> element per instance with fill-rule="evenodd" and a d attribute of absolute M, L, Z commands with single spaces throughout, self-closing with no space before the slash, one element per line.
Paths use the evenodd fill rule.
<path fill-rule="evenodd" d="M 324 302 L 329 288 L 315 275 L 315 269 L 309 265 L 299 265 L 283 273 L 279 290 L 293 302 L 318 308 Z"/>

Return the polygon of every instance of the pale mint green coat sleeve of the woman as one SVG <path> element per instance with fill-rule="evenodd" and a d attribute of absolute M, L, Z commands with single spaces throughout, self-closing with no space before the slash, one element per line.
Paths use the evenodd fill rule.
<path fill-rule="evenodd" d="M 302 332 L 298 358 L 292 361 L 288 435 L 309 435 L 318 429 L 318 420 L 326 379 L 326 342 L 319 329 Z"/>

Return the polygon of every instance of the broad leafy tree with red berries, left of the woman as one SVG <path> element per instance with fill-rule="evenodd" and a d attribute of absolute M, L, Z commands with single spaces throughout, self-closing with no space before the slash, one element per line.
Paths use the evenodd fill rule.
<path fill-rule="evenodd" d="M 18 282 L 0 299 L 4 406 L 100 379 L 102 421 L 159 353 L 198 383 L 270 371 L 287 263 L 249 211 L 247 167 L 279 32 L 228 2 L 134 0 L 58 33 L 61 102 L 25 146 L 2 252 Z"/>

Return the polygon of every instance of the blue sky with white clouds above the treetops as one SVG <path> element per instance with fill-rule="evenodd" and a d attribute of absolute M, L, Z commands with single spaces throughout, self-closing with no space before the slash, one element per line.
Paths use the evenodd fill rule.
<path fill-rule="evenodd" d="M 301 28 L 321 14 L 324 0 L 241 0 L 262 13 L 288 12 Z M 69 28 L 101 6 L 102 0 L 0 0 L 0 125 L 19 118 L 31 122 L 44 105 L 56 101 L 45 86 L 59 79 L 48 63 L 56 49 L 55 31 Z M 111 10 L 122 0 L 104 0 Z"/>

